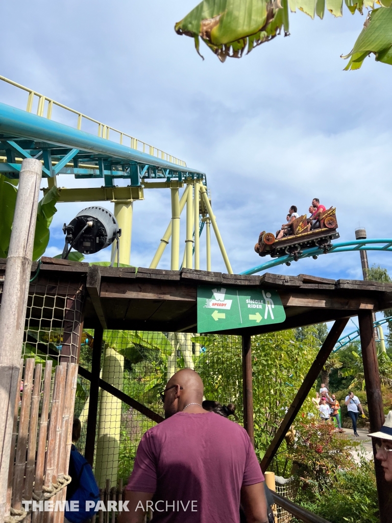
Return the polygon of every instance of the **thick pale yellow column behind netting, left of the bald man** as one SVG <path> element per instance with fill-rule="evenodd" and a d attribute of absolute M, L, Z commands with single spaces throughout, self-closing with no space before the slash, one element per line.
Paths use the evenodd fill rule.
<path fill-rule="evenodd" d="M 112 347 L 105 349 L 102 379 L 122 390 L 124 357 Z M 95 477 L 99 487 L 117 484 L 121 428 L 121 400 L 101 390 Z"/>

